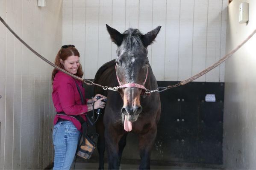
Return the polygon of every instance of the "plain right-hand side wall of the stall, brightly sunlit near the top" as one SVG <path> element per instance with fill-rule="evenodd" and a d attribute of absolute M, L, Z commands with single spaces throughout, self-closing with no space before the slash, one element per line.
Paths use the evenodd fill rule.
<path fill-rule="evenodd" d="M 249 23 L 238 23 L 239 5 L 249 3 Z M 228 7 L 227 49 L 256 29 L 256 1 L 232 0 Z M 256 169 L 256 35 L 225 63 L 223 158 L 226 169 Z"/>

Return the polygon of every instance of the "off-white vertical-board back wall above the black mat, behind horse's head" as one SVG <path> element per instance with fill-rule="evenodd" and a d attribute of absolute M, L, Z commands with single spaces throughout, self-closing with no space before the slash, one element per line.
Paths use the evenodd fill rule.
<path fill-rule="evenodd" d="M 116 57 L 105 24 L 142 33 L 162 26 L 148 47 L 157 80 L 179 81 L 225 54 L 228 0 L 63 0 L 62 44 L 74 44 L 85 78 Z M 224 82 L 224 65 L 196 81 Z"/>

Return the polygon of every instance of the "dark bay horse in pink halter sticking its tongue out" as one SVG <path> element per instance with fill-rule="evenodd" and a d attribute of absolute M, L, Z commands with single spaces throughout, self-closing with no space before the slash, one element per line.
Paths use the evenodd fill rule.
<path fill-rule="evenodd" d="M 106 92 L 98 87 L 94 89 L 95 94 L 103 94 L 108 100 L 103 116 L 96 123 L 99 133 L 99 169 L 103 169 L 105 144 L 109 169 L 119 169 L 128 132 L 138 134 L 141 157 L 139 169 L 150 169 L 150 151 L 156 138 L 161 104 L 159 93 L 146 96 L 143 95 L 144 89 L 140 87 L 158 88 L 149 65 L 147 46 L 156 38 L 161 26 L 147 34 L 141 34 L 138 29 L 132 28 L 121 34 L 106 26 L 112 41 L 118 46 L 117 57 L 100 67 L 94 81 L 109 87 L 128 86 L 120 88 L 119 93 Z"/>

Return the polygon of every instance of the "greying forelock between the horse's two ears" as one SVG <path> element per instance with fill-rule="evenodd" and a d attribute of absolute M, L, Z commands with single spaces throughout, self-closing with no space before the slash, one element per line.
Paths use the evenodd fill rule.
<path fill-rule="evenodd" d="M 141 41 L 141 32 L 138 29 L 129 28 L 124 31 L 124 39 L 122 44 L 125 45 L 130 51 L 136 51 L 143 45 Z"/>

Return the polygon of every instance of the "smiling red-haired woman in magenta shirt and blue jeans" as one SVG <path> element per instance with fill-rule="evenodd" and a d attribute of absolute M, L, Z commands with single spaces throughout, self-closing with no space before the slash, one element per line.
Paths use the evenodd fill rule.
<path fill-rule="evenodd" d="M 62 46 L 56 56 L 55 65 L 78 77 L 83 76 L 82 66 L 79 63 L 79 52 L 74 45 Z M 106 103 L 101 100 L 106 99 L 106 97 L 97 94 L 93 99 L 85 99 L 85 105 L 82 105 L 78 88 L 82 92 L 83 100 L 85 89 L 82 88 L 81 81 L 56 69 L 53 70 L 52 80 L 53 104 L 57 113 L 64 112 L 63 114 L 56 114 L 53 121 L 53 145 L 55 150 L 53 170 L 70 169 L 82 131 L 80 122 L 72 115 L 79 115 L 86 121 L 85 114 L 93 109 L 92 103 L 94 102 L 94 109 L 104 108 Z M 97 100 L 97 96 L 101 98 Z"/>

